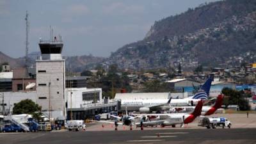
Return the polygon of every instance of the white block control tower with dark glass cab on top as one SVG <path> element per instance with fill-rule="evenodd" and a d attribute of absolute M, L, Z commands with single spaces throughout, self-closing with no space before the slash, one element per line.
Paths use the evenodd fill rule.
<path fill-rule="evenodd" d="M 40 40 L 41 56 L 36 60 L 36 97 L 42 111 L 51 118 L 65 117 L 65 60 L 61 37 Z"/>

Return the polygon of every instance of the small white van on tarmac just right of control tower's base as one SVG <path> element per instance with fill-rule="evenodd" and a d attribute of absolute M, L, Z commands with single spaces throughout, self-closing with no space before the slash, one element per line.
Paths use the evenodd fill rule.
<path fill-rule="evenodd" d="M 68 120 L 67 121 L 67 129 L 69 131 L 85 131 L 86 125 L 84 124 L 83 120 Z"/>

